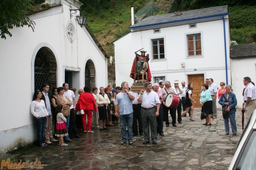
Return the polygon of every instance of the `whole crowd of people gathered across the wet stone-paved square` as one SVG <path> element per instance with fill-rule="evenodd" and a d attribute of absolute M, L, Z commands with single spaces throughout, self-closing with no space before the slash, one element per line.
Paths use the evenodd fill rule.
<path fill-rule="evenodd" d="M 245 88 L 243 90 L 244 109 L 247 121 L 256 108 L 256 88 L 249 77 L 243 79 Z M 68 146 L 66 142 L 72 142 L 69 138 L 73 136 L 80 138 L 78 131 L 93 133 L 92 128 L 100 131 L 108 130 L 107 126 L 116 123 L 121 124 L 121 144 L 127 141 L 133 144 L 133 136 L 144 136 L 143 144 L 157 144 L 157 135 L 164 136 L 163 122 L 169 127 L 169 114 L 172 117 L 172 126 L 177 121 L 182 123 L 182 117 L 193 118 L 193 84 L 187 86 L 185 81 L 174 80 L 174 86 L 170 81 L 159 81 L 152 86 L 152 83 L 144 84 L 143 90 L 139 93 L 130 91 L 129 84 L 122 82 L 121 87 L 113 88 L 112 84 L 107 87 L 91 88 L 85 86 L 78 90 L 69 90 L 69 84 L 63 83 L 62 87 L 53 88 L 52 96 L 49 96 L 49 84 L 44 84 L 42 91 L 34 93 L 31 103 L 31 113 L 34 116 L 37 128 L 37 138 L 41 147 L 59 142 L 61 146 Z M 237 134 L 235 114 L 236 95 L 232 93 L 230 85 L 220 82 L 220 88 L 213 83 L 213 79 L 205 79 L 200 92 L 200 105 L 202 112 L 207 116 L 203 125 L 211 125 L 211 118 L 217 118 L 216 98 L 222 106 L 225 135 L 229 135 L 229 120 L 232 135 Z M 167 104 L 166 97 L 174 94 L 179 98 L 176 107 Z M 181 110 L 183 112 L 181 113 Z M 225 114 L 225 116 L 224 116 Z M 139 129 L 138 129 L 139 128 Z M 151 131 L 149 133 L 149 130 Z M 54 135 L 52 135 L 54 134 Z"/>

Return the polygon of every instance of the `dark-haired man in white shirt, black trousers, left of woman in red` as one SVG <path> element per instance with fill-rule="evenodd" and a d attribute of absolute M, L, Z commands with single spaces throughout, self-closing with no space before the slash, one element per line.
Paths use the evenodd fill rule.
<path fill-rule="evenodd" d="M 77 135 L 77 129 L 76 129 L 76 97 L 72 90 L 69 90 L 69 84 L 63 83 L 62 87 L 64 88 L 64 95 L 67 96 L 71 101 L 72 105 L 70 106 L 70 117 L 69 117 L 69 135 L 74 135 L 75 138 L 80 138 L 79 135 Z"/>

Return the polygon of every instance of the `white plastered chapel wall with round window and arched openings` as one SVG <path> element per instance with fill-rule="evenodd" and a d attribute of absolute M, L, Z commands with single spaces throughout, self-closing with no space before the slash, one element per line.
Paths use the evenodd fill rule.
<path fill-rule="evenodd" d="M 74 7 L 74 6 L 73 6 Z M 75 8 L 75 7 L 74 7 Z M 79 12 L 78 12 L 79 13 Z M 75 16 L 75 15 L 74 15 Z M 12 37 L 0 40 L 0 152 L 13 150 L 36 140 L 36 127 L 30 112 L 34 94 L 34 60 L 41 47 L 48 47 L 57 62 L 57 86 L 64 82 L 65 68 L 80 70 L 74 76 L 75 88 L 84 87 L 84 69 L 88 59 L 94 62 L 96 86 L 107 85 L 105 56 L 85 28 L 70 19 L 69 3 L 31 15 L 36 22 L 31 28 L 13 28 Z M 72 22 L 76 38 L 71 43 L 66 34 L 66 24 Z"/>

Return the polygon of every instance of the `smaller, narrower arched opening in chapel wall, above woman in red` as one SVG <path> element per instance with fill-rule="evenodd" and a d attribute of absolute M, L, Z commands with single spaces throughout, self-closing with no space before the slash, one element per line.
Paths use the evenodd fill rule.
<path fill-rule="evenodd" d="M 93 61 L 89 59 L 85 64 L 84 86 L 89 86 L 92 90 L 96 87 L 95 82 L 95 66 Z"/>

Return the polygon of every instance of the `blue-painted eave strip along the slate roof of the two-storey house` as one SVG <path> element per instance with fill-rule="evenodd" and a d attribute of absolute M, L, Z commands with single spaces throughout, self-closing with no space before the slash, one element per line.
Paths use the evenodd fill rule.
<path fill-rule="evenodd" d="M 175 22 L 184 22 L 184 21 L 198 20 L 198 19 L 204 19 L 204 18 L 213 18 L 213 17 L 225 16 L 225 15 L 229 15 L 229 13 L 217 14 L 217 15 L 208 15 L 208 16 L 201 16 L 201 17 L 197 17 L 197 18 L 188 18 L 188 19 L 176 20 L 176 21 L 152 23 L 152 24 L 148 24 L 148 25 L 130 26 L 129 28 L 130 28 L 130 29 L 133 29 L 133 28 L 149 27 L 149 26 L 163 25 L 163 24 L 175 23 Z"/>

